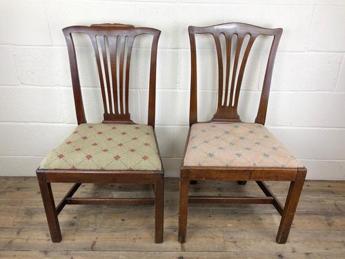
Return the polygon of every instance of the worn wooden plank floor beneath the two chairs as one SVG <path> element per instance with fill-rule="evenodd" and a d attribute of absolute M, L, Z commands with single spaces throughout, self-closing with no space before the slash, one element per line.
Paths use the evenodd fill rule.
<path fill-rule="evenodd" d="M 284 201 L 288 184 L 268 182 Z M 70 184 L 54 184 L 57 202 Z M 194 195 L 262 195 L 255 182 L 199 182 Z M 151 186 L 83 184 L 75 197 L 152 197 Z M 178 180 L 166 180 L 164 243 L 152 205 L 67 205 L 62 242 L 50 242 L 36 178 L 0 178 L 0 258 L 345 258 L 345 182 L 307 181 L 286 244 L 270 204 L 192 204 L 177 242 Z"/>

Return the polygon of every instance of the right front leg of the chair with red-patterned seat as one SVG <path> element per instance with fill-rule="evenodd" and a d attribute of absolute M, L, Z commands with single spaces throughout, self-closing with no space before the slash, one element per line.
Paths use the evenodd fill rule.
<path fill-rule="evenodd" d="M 155 243 L 163 242 L 164 173 L 155 173 Z"/>

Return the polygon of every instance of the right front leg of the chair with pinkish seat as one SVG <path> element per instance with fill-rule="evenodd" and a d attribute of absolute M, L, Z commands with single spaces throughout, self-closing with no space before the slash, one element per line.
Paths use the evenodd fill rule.
<path fill-rule="evenodd" d="M 282 220 L 280 221 L 279 230 L 277 233 L 276 240 L 278 244 L 285 244 L 288 240 L 288 234 L 290 233 L 291 224 L 293 223 L 293 217 L 295 216 L 295 211 L 297 208 L 299 196 L 302 192 L 305 178 L 306 170 L 299 170 L 297 172 L 295 182 L 290 183 L 290 188 L 288 189 L 288 196 L 286 197 Z"/>

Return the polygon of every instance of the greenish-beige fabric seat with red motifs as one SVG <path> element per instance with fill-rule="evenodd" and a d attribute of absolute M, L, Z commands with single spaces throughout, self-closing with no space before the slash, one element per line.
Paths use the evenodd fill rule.
<path fill-rule="evenodd" d="M 152 126 L 80 124 L 39 169 L 161 171 Z"/>

